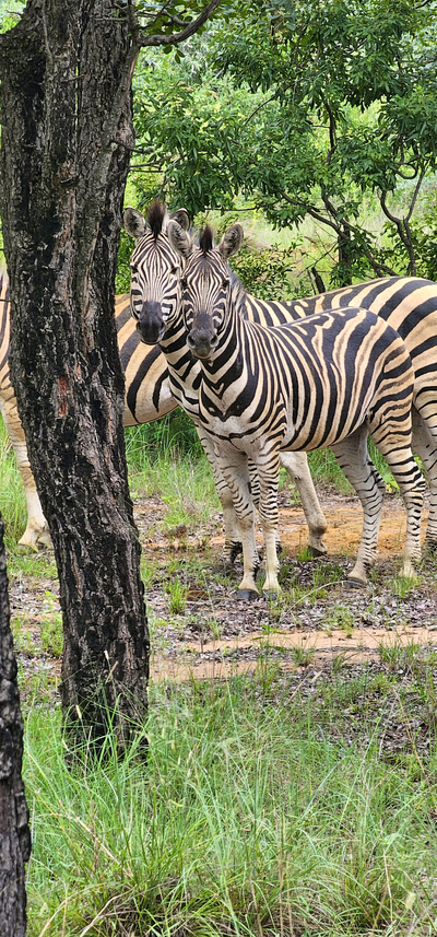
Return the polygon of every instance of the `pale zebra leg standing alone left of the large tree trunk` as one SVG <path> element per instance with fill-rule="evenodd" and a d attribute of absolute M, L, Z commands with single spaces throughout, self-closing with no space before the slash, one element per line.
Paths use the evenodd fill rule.
<path fill-rule="evenodd" d="M 0 408 L 4 425 L 11 440 L 12 448 L 15 453 L 16 462 L 26 495 L 27 526 L 23 536 L 19 540 L 19 547 L 31 547 L 33 550 L 37 550 L 38 547 L 51 547 L 48 524 L 43 514 L 35 479 L 28 461 L 26 440 L 16 410 L 15 397 L 13 396 L 10 397 L 10 399 L 0 399 Z"/>

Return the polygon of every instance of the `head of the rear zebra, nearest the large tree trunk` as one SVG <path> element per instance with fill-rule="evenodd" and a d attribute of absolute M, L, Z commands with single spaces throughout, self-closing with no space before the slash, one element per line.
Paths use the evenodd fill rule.
<path fill-rule="evenodd" d="M 135 238 L 130 259 L 130 307 L 145 344 L 156 344 L 163 338 L 168 319 L 180 307 L 181 255 L 168 242 L 170 218 L 188 231 L 188 212 L 182 208 L 169 215 L 166 204 L 158 200 L 152 202 L 145 219 L 133 208 L 123 213 L 125 229 Z"/>

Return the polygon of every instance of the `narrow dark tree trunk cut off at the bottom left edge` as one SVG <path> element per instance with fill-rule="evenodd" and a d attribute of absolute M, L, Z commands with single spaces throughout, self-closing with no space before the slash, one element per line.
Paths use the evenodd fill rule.
<path fill-rule="evenodd" d="M 3 522 L 0 518 L 0 934 L 25 937 L 24 863 L 31 855 L 28 810 L 21 778 L 23 721 L 10 626 Z"/>

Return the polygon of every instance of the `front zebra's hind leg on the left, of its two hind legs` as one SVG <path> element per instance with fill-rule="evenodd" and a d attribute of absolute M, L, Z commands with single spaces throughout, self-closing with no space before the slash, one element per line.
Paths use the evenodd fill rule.
<path fill-rule="evenodd" d="M 376 558 L 385 484 L 367 453 L 366 426 L 359 426 L 355 433 L 331 448 L 363 506 L 362 539 L 346 583 L 352 587 L 364 587 L 367 585 L 367 572 Z"/>

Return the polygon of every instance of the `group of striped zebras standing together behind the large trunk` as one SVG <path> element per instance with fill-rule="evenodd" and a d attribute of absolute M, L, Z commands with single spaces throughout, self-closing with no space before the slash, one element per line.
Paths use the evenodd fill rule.
<path fill-rule="evenodd" d="M 187 213 L 170 218 L 154 202 L 146 219 L 127 209 L 125 227 L 135 238 L 130 300 L 116 297 L 125 425 L 157 419 L 178 403 L 191 414 L 223 506 L 226 561 L 243 542 L 239 597 L 258 596 L 253 503 L 265 540 L 264 592 L 277 590 L 280 460 L 300 492 L 308 543 L 326 552 L 326 520 L 306 452 L 327 445 L 363 504 L 349 581 L 366 583 L 385 489 L 367 453 L 368 433 L 404 500 L 402 569 L 410 575 L 420 553 L 424 488 L 412 448 L 429 482 L 425 548 L 437 546 L 437 284 L 394 277 L 294 303 L 265 302 L 246 293 L 228 267 L 243 241 L 239 224 L 217 247 L 206 229 L 197 246 Z M 8 289 L 3 273 L 0 406 L 26 489 L 21 542 L 36 544 L 48 534 L 9 379 Z"/>

